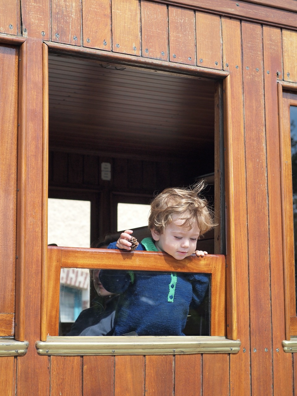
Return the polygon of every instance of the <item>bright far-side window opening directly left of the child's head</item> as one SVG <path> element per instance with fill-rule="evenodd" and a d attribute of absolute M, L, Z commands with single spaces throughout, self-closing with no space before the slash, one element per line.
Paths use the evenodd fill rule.
<path fill-rule="evenodd" d="M 118 231 L 147 226 L 150 205 L 118 203 Z"/>

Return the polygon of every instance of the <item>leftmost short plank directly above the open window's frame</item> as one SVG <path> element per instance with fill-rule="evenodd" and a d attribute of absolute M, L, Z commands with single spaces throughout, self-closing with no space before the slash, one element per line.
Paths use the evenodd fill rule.
<path fill-rule="evenodd" d="M 80 46 L 80 18 L 79 0 L 52 0 L 51 41 Z"/>

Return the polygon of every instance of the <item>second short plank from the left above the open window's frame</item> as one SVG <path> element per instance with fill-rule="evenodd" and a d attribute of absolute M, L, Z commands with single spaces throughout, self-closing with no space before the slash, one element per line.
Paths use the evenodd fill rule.
<path fill-rule="evenodd" d="M 110 51 L 110 0 L 82 0 L 82 29 L 84 47 Z"/>

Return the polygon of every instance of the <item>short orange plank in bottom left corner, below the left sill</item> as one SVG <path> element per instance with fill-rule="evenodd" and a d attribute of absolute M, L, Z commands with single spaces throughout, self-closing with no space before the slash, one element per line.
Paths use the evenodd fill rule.
<path fill-rule="evenodd" d="M 0 359 L 0 395 L 15 395 L 15 375 L 17 369 L 17 358 L 3 356 Z"/>

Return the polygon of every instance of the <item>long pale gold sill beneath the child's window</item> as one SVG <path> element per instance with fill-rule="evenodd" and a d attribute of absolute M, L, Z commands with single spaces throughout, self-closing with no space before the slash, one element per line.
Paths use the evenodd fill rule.
<path fill-rule="evenodd" d="M 40 355 L 174 355 L 237 353 L 240 340 L 217 336 L 47 337 L 37 341 Z"/>

